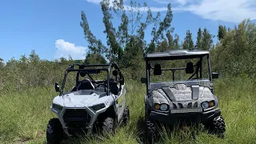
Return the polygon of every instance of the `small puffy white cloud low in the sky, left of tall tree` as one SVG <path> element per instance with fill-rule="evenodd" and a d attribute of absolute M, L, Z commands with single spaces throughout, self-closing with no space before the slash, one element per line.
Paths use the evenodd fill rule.
<path fill-rule="evenodd" d="M 69 58 L 69 55 L 73 59 L 84 59 L 86 54 L 86 47 L 75 46 L 74 43 L 65 42 L 63 39 L 58 39 L 55 42 L 57 48 L 55 58 Z"/>

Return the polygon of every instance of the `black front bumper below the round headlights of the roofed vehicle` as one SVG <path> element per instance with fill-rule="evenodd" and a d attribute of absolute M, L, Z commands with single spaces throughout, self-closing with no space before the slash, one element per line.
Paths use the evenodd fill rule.
<path fill-rule="evenodd" d="M 157 122 L 165 122 L 174 125 L 175 122 L 208 122 L 221 114 L 220 109 L 209 110 L 206 112 L 194 113 L 161 113 L 157 111 L 150 112 L 150 119 Z"/>

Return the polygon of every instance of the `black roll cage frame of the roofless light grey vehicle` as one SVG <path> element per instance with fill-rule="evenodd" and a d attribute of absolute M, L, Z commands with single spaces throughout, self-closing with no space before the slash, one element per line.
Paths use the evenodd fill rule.
<path fill-rule="evenodd" d="M 76 66 L 78 66 L 78 68 L 75 68 Z M 100 67 L 100 68 L 92 68 L 92 67 Z M 86 69 L 87 68 L 87 69 Z M 78 77 L 80 72 L 86 72 L 86 74 L 88 74 L 88 76 L 90 77 L 90 74 L 97 74 L 100 71 L 106 71 L 107 72 L 107 91 L 106 94 L 109 95 L 110 94 L 110 70 L 111 68 L 114 68 L 113 70 L 113 75 L 115 76 L 115 81 L 116 82 L 120 82 L 121 85 L 124 84 L 124 77 L 122 75 L 121 70 L 119 69 L 118 65 L 114 62 L 111 62 L 109 64 L 92 64 L 92 65 L 86 65 L 86 64 L 78 64 L 78 63 L 74 63 L 68 66 L 68 68 L 66 69 L 66 72 L 64 74 L 64 78 L 62 81 L 62 88 L 60 90 L 60 94 L 59 96 L 62 96 L 63 94 L 63 90 L 65 87 L 65 83 L 66 83 L 66 76 L 70 71 L 77 71 L 77 76 L 76 76 L 76 84 L 78 84 Z M 118 74 L 119 74 L 119 79 L 118 79 Z M 91 78 L 91 77 L 90 77 Z M 91 78 L 93 80 L 93 78 Z"/>

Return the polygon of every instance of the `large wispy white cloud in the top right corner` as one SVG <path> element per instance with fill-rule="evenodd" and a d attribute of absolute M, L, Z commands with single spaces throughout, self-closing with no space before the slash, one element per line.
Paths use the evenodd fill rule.
<path fill-rule="evenodd" d="M 252 8 L 255 4 L 255 0 L 201 0 L 179 10 L 190 11 L 206 19 L 241 22 L 245 18 L 256 18 L 256 9 Z"/>

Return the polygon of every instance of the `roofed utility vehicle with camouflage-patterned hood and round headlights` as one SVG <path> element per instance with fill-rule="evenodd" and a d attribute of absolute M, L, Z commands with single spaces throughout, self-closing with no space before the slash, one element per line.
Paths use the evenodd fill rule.
<path fill-rule="evenodd" d="M 210 132 L 224 136 L 225 122 L 213 85 L 218 73 L 211 72 L 208 50 L 169 50 L 144 54 L 144 58 L 146 78 L 141 78 L 141 82 L 146 83 L 148 142 L 156 138 L 158 123 L 169 126 L 181 122 L 202 123 Z M 162 79 L 166 82 L 161 82 Z"/>

